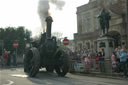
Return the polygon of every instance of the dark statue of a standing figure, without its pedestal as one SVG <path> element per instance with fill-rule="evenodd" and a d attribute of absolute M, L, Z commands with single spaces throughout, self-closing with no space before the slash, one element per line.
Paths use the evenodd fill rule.
<path fill-rule="evenodd" d="M 101 14 L 98 16 L 98 18 L 99 18 L 101 29 L 103 31 L 103 35 L 108 34 L 109 21 L 111 19 L 109 12 L 106 12 L 105 9 L 103 9 Z"/>

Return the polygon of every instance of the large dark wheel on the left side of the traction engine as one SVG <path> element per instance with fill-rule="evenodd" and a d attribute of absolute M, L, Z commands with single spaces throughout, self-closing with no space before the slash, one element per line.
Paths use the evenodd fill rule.
<path fill-rule="evenodd" d="M 31 48 L 27 55 L 27 66 L 24 67 L 24 70 L 29 74 L 30 77 L 35 77 L 39 72 L 40 66 L 40 55 L 36 48 Z"/>

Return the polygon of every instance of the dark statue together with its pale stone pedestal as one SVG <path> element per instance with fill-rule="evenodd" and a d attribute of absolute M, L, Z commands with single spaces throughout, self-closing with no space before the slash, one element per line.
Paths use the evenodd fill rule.
<path fill-rule="evenodd" d="M 102 35 L 97 39 L 97 50 L 104 49 L 105 72 L 110 73 L 112 72 L 111 55 L 114 51 L 114 39 L 108 34 L 109 21 L 111 19 L 111 16 L 109 12 L 106 12 L 106 10 L 103 9 L 98 18 L 102 30 Z"/>

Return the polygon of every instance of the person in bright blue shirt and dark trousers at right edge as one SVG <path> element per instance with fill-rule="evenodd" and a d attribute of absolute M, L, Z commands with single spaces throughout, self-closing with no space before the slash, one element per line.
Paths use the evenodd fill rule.
<path fill-rule="evenodd" d="M 127 77 L 127 51 L 125 48 L 123 48 L 123 51 L 121 53 L 121 56 L 120 56 L 120 64 L 121 64 L 121 68 L 123 70 L 123 73 L 124 73 L 124 77 Z"/>

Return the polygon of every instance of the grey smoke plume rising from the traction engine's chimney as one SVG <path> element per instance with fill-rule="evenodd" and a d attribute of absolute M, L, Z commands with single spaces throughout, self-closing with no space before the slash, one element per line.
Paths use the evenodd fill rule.
<path fill-rule="evenodd" d="M 63 0 L 39 0 L 38 4 L 38 13 L 41 19 L 41 24 L 43 27 L 43 32 L 45 32 L 45 18 L 50 15 L 49 9 L 50 4 L 52 3 L 56 6 L 56 9 L 62 10 L 63 6 L 65 5 L 65 2 Z"/>

